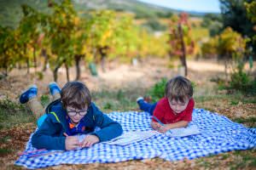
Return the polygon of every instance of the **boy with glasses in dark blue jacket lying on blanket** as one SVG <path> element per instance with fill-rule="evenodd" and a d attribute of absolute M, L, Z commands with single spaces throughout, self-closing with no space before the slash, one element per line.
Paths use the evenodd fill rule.
<path fill-rule="evenodd" d="M 43 115 L 43 106 L 36 99 L 38 88 L 33 85 L 20 95 L 20 103 L 27 103 L 38 118 L 38 131 L 32 136 L 32 145 L 37 149 L 74 150 L 118 137 L 122 127 L 103 114 L 91 102 L 90 91 L 82 82 L 67 82 L 60 89 L 49 84 L 50 94 L 56 99 Z M 36 112 L 37 111 L 37 112 Z M 42 116 L 43 115 L 43 116 Z M 100 130 L 95 131 L 96 127 Z M 76 135 L 86 134 L 79 142 Z"/>

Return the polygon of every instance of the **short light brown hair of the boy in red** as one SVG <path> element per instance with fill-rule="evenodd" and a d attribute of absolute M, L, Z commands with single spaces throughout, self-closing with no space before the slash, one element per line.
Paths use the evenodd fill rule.
<path fill-rule="evenodd" d="M 193 87 L 186 77 L 174 77 L 166 83 L 166 97 L 184 102 L 193 96 Z"/>

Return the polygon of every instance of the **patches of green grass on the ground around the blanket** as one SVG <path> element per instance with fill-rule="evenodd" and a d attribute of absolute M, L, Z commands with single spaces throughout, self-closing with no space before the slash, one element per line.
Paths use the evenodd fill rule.
<path fill-rule="evenodd" d="M 125 89 L 102 89 L 101 91 L 91 92 L 92 99 L 96 105 L 103 112 L 112 111 L 134 111 L 137 110 L 136 99 L 138 96 L 147 94 L 148 89 L 144 88 L 125 88 Z M 200 105 L 201 108 L 209 111 L 215 107 L 215 101 L 223 103 L 225 101 L 230 106 L 237 106 L 240 104 L 255 104 L 256 97 L 244 96 L 242 94 L 218 94 L 218 95 L 206 95 L 195 96 L 196 105 Z M 41 97 L 41 103 L 45 106 L 49 103 L 50 99 L 48 95 Z M 206 102 L 211 103 L 205 105 Z M 225 104 L 222 104 L 225 105 Z M 221 106 L 221 105 L 220 105 Z M 212 110 L 213 111 L 213 110 Z M 252 124 L 249 127 L 255 127 L 256 116 L 250 117 L 234 117 L 232 121 L 239 123 Z M 0 101 L 0 127 L 13 127 L 20 123 L 36 122 L 31 112 L 24 105 L 20 105 L 11 101 L 10 99 L 4 99 Z M 1 128 L 0 128 L 1 129 Z M 0 139 L 0 143 L 8 143 L 9 136 L 5 136 Z M 256 167 L 256 150 L 236 150 L 228 153 L 222 153 L 218 155 L 210 155 L 195 159 L 197 167 L 204 169 L 212 169 L 216 167 L 229 167 L 230 169 L 252 169 Z M 13 150 L 9 148 L 0 149 L 0 155 L 6 156 L 12 154 Z"/>

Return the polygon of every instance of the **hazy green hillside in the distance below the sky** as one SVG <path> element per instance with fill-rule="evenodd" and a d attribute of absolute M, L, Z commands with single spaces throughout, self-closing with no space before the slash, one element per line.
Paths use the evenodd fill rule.
<path fill-rule="evenodd" d="M 57 1 L 60 2 L 60 0 Z M 47 0 L 0 0 L 0 25 L 17 26 L 22 17 L 20 5 L 24 3 L 41 12 L 49 13 L 47 2 Z M 137 19 L 166 18 L 180 12 L 136 0 L 73 0 L 73 3 L 78 11 L 108 8 L 133 13 Z M 203 13 L 189 12 L 189 14 L 202 15 Z"/>

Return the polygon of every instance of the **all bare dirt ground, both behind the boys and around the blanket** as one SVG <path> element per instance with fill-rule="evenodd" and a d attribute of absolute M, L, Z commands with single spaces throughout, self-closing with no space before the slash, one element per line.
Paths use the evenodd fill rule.
<path fill-rule="evenodd" d="M 82 68 L 81 81 L 85 82 L 91 91 L 98 91 L 101 89 L 114 90 L 119 88 L 149 88 L 155 82 L 159 81 L 162 77 L 171 78 L 178 75 L 179 71 L 175 68 L 168 68 L 169 61 L 167 59 L 149 59 L 144 60 L 143 64 L 138 65 L 121 65 L 115 62 L 108 63 L 107 71 L 102 72 L 98 68 L 98 77 L 90 76 L 90 72 L 87 68 Z M 177 65 L 175 63 L 174 65 Z M 189 79 L 196 83 L 195 96 L 212 96 L 215 94 L 222 94 L 223 92 L 218 92 L 216 89 L 216 83 L 210 80 L 214 77 L 224 77 L 224 65 L 209 60 L 189 60 Z M 32 69 L 33 71 L 33 69 Z M 74 68 L 71 69 L 71 80 L 75 77 Z M 9 77 L 6 80 L 0 81 L 0 99 L 12 99 L 18 102 L 20 92 L 27 88 L 28 85 L 36 83 L 38 85 L 38 95 L 48 94 L 47 85 L 49 82 L 53 81 L 51 71 L 46 71 L 44 73 L 43 80 L 39 80 L 34 74 L 26 74 L 26 70 L 18 71 L 14 70 L 10 72 Z M 59 71 L 59 81 L 58 83 L 62 87 L 66 79 L 66 71 L 61 68 Z M 238 105 L 230 106 L 225 99 L 213 99 L 209 102 L 202 102 L 195 107 L 209 108 L 212 111 L 217 111 L 225 116 L 232 117 L 250 117 L 256 115 L 256 104 L 243 104 L 238 103 Z M 29 138 L 29 135 L 35 129 L 33 123 L 27 123 L 17 128 L 2 129 L 0 132 L 0 137 L 3 138 L 8 134 L 12 134 L 15 138 L 9 139 L 8 143 L 1 143 L 1 148 L 11 148 L 15 150 L 14 154 L 6 154 L 0 156 L 0 165 L 3 169 L 13 169 L 20 168 L 14 167 L 13 164 L 17 160 L 17 154 L 24 150 L 25 144 Z M 236 162 L 240 159 L 240 156 L 234 154 L 226 156 L 220 154 L 219 156 L 214 156 L 214 158 L 207 157 L 204 161 L 201 159 L 195 159 L 192 161 L 163 161 L 159 158 L 143 161 L 125 161 L 119 163 L 110 164 L 87 164 L 87 165 L 67 165 L 67 166 L 57 166 L 50 167 L 49 169 L 205 169 L 206 166 L 201 164 L 205 162 L 212 162 L 212 165 L 216 164 L 215 169 L 230 169 L 232 162 Z M 256 156 L 255 151 L 244 151 L 245 154 Z M 212 168 L 212 165 L 210 168 Z M 245 165 L 245 168 L 247 165 Z M 0 168 L 0 169 L 2 169 Z M 247 168 L 250 169 L 251 167 Z M 256 169 L 256 167 L 255 167 Z"/>

